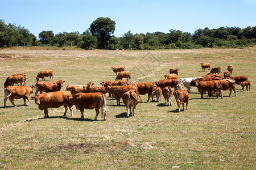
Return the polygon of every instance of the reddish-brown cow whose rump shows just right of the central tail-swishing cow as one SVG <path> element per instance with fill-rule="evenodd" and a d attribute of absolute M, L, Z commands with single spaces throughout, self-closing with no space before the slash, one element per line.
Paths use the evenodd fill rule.
<path fill-rule="evenodd" d="M 137 86 L 139 95 L 148 95 L 147 102 L 150 100 L 152 92 L 154 91 L 154 84 L 151 82 L 148 83 L 129 83 L 128 86 Z"/>

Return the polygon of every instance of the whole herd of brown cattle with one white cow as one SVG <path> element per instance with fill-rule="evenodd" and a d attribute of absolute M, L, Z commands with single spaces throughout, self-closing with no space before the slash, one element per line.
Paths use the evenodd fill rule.
<path fill-rule="evenodd" d="M 201 63 L 201 67 L 203 71 L 205 71 L 205 69 L 209 71 L 210 63 Z M 147 102 L 150 101 L 150 97 L 153 101 L 154 96 L 156 96 L 156 101 L 160 101 L 160 96 L 163 95 L 167 105 L 172 105 L 172 96 L 174 95 L 180 112 L 181 104 L 183 105 L 183 111 L 184 104 L 186 104 L 186 109 L 188 110 L 191 86 L 198 88 L 201 99 L 203 99 L 205 92 L 208 92 L 208 96 L 213 96 L 214 92 L 217 92 L 217 98 L 221 96 L 222 99 L 221 90 L 229 90 L 229 96 L 232 94 L 233 90 L 235 96 L 237 96 L 236 84 L 240 84 L 242 90 L 244 87 L 246 87 L 247 91 L 248 87 L 250 90 L 250 80 L 248 80 L 247 76 L 231 76 L 233 71 L 232 65 L 228 66 L 228 71 L 225 71 L 224 78 L 222 78 L 220 74 L 222 73 L 220 67 L 213 67 L 210 73 L 198 78 L 180 79 L 177 79 L 179 69 L 170 69 L 170 74 L 164 75 L 165 79 L 147 83 L 131 83 L 131 73 L 125 71 L 125 67 L 112 67 L 112 70 L 117 77 L 115 80 L 101 82 L 101 87 L 93 86 L 94 83 L 89 82 L 86 86 L 68 85 L 66 91 L 60 91 L 65 82 L 63 80 L 55 82 L 39 81 L 39 78 L 43 80 L 44 77 L 47 76 L 50 77 L 50 80 L 53 80 L 52 70 L 40 71 L 36 76 L 38 82 L 36 82 L 35 86 L 26 86 L 26 73 L 11 75 L 7 77 L 4 83 L 4 108 L 6 107 L 8 98 L 14 107 L 16 107 L 14 99 L 21 98 L 24 100 L 24 105 L 27 106 L 30 103 L 30 94 L 33 93 L 35 89 L 35 96 L 31 98 L 35 99 L 35 103 L 38 104 L 39 109 L 44 110 L 44 118 L 49 117 L 48 108 L 59 108 L 61 106 L 65 108 L 64 116 L 69 108 L 72 117 L 72 107 L 75 105 L 76 108 L 80 110 L 82 119 L 84 119 L 84 109 L 96 109 L 96 117 L 94 120 L 97 120 L 101 108 L 102 117 L 106 120 L 106 93 L 109 93 L 109 97 L 112 95 L 112 97 L 117 100 L 117 105 L 120 105 L 120 99 L 122 98 L 123 104 L 126 105 L 127 117 L 129 117 L 129 112 L 135 116 L 136 105 L 143 103 L 141 95 L 148 95 Z M 123 78 L 127 78 L 127 81 L 123 80 Z M 128 79 L 130 83 L 127 83 Z M 14 86 L 15 83 L 18 84 L 18 86 Z M 187 91 L 181 90 L 183 88 L 183 86 L 181 86 L 182 84 L 187 87 Z M 174 88 L 174 90 L 172 90 L 172 88 Z M 38 94 L 38 92 L 40 94 Z M 26 99 L 28 100 L 27 104 Z M 131 107 L 133 107 L 132 110 Z"/>

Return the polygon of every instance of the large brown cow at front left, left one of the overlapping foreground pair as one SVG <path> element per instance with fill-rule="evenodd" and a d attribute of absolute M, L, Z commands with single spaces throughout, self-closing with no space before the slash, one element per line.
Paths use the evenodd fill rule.
<path fill-rule="evenodd" d="M 44 110 L 44 118 L 49 118 L 48 108 L 59 108 L 62 105 L 65 108 L 65 112 L 63 116 L 66 116 L 68 108 L 70 109 L 71 116 L 73 116 L 72 106 L 70 107 L 68 104 L 68 97 L 72 97 L 70 91 L 55 91 L 49 92 L 45 94 L 38 94 L 32 96 L 32 99 L 35 99 L 35 103 L 38 105 L 40 110 Z"/>

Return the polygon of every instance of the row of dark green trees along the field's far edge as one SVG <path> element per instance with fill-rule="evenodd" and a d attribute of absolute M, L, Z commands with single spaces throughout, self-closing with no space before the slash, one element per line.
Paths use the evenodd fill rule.
<path fill-rule="evenodd" d="M 79 32 L 57 33 L 42 31 L 39 39 L 28 29 L 15 24 L 5 24 L 0 19 L 0 46 L 72 46 L 82 49 L 193 49 L 193 48 L 242 48 L 256 44 L 256 27 L 220 27 L 197 29 L 194 33 L 170 29 L 170 32 L 124 33 L 113 35 L 115 22 L 110 18 L 98 18 L 90 27 Z"/>

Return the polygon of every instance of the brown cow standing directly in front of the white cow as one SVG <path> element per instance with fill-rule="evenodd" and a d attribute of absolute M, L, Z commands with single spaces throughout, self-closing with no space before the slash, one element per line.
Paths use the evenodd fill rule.
<path fill-rule="evenodd" d="M 185 90 L 178 90 L 180 87 L 178 87 L 179 84 L 177 84 L 176 88 L 177 90 L 174 92 L 174 97 L 176 99 L 177 105 L 179 107 L 179 112 L 180 112 L 180 105 L 183 105 L 183 111 L 184 111 L 184 103 L 186 103 L 186 109 L 188 110 L 188 100 L 189 100 L 189 95 L 188 92 Z"/>

